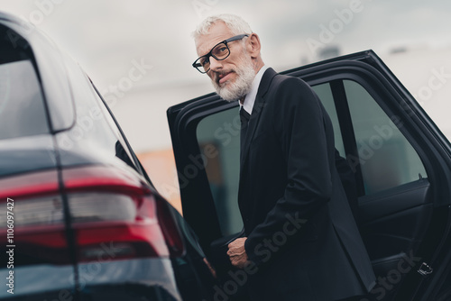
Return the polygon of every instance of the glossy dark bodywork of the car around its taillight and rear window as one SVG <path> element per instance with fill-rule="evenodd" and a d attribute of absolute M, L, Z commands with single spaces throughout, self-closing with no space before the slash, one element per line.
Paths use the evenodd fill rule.
<path fill-rule="evenodd" d="M 42 118 L 49 124 L 48 133 L 0 140 L 0 177 L 55 169 L 63 178 L 64 171 L 72 167 L 107 165 L 128 169 L 136 180 L 158 196 L 115 117 L 78 64 L 31 24 L 0 13 L 0 25 L 9 28 L 8 38 L 17 43 L 18 49 L 19 45 L 26 48 L 31 56 L 45 102 L 46 115 Z M 59 184 L 60 187 L 64 185 Z M 152 300 L 208 297 L 206 294 L 212 289 L 213 277 L 204 263 L 205 254 L 189 225 L 175 209 L 171 210 L 186 247 L 179 258 L 87 264 L 73 261 L 59 267 L 24 265 L 19 269 L 28 269 L 29 277 L 23 278 L 18 287 L 26 289 L 16 290 L 15 297 L 53 300 L 62 296 L 78 301 L 141 300 L 143 296 Z M 66 226 L 68 245 L 76 247 L 75 238 L 67 235 L 70 223 Z M 93 269 L 96 269 L 95 275 Z M 0 269 L 2 277 L 5 270 Z M 11 296 L 3 290 L 0 298 L 6 297 Z"/>

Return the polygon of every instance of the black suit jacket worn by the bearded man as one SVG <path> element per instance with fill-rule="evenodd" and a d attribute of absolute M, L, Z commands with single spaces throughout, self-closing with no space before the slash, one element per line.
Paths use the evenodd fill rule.
<path fill-rule="evenodd" d="M 253 300 L 337 300 L 373 287 L 336 170 L 332 123 L 305 82 L 265 71 L 240 166 Z"/>

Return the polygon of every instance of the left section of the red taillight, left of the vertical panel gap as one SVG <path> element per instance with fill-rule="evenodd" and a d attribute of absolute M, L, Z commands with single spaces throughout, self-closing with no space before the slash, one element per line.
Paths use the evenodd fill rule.
<path fill-rule="evenodd" d="M 6 227 L 7 211 L 14 214 L 13 232 Z M 7 234 L 8 245 L 15 246 L 14 265 L 70 261 L 56 170 L 0 179 L 0 236 Z"/>

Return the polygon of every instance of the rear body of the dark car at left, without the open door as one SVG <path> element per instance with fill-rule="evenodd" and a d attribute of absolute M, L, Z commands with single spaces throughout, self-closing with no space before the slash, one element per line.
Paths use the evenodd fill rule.
<path fill-rule="evenodd" d="M 196 236 L 87 76 L 11 15 L 0 39 L 0 299 L 209 298 Z"/>

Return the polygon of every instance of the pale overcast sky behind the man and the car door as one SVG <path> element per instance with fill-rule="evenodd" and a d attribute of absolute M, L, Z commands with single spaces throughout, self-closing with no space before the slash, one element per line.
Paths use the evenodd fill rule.
<path fill-rule="evenodd" d="M 279 71 L 336 46 L 340 54 L 375 50 L 413 94 L 434 68 L 451 74 L 451 2 L 445 0 L 0 0 L 0 10 L 46 32 L 104 94 L 133 64 L 149 67 L 112 108 L 137 151 L 169 148 L 165 110 L 212 91 L 191 67 L 197 54 L 190 34 L 209 14 L 243 16 L 260 35 L 263 60 Z M 391 54 L 400 48 L 410 51 Z M 451 132 L 450 94 L 443 91 L 422 105 Z"/>

